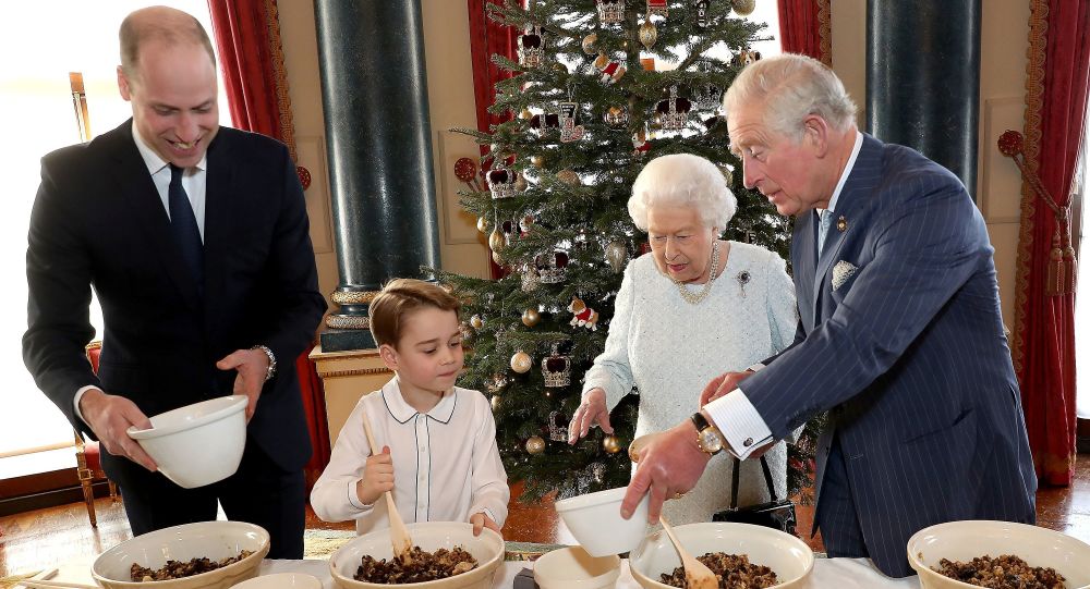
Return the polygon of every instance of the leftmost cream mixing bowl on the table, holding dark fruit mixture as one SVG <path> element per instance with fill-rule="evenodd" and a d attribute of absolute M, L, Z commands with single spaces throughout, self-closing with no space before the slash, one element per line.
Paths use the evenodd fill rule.
<path fill-rule="evenodd" d="M 167 561 L 207 557 L 220 561 L 253 552 L 222 568 L 158 581 L 133 581 L 133 563 L 147 568 L 162 568 Z M 245 521 L 201 521 L 142 533 L 107 550 L 95 559 L 90 574 L 106 589 L 227 589 L 257 575 L 257 567 L 269 552 L 269 533 Z"/>

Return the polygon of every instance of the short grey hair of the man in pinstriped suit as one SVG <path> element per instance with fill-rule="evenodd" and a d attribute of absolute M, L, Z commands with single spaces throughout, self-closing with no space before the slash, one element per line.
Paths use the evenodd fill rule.
<path fill-rule="evenodd" d="M 794 140 L 802 138 L 802 123 L 810 114 L 837 131 L 847 131 L 856 122 L 856 103 L 840 78 L 824 63 L 797 53 L 747 65 L 723 98 L 727 116 L 735 109 L 759 103 L 765 105 L 764 121 Z"/>

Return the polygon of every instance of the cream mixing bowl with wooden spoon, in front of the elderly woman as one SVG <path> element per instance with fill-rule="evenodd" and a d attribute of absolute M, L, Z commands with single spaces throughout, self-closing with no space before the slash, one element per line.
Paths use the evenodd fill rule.
<path fill-rule="evenodd" d="M 746 554 L 752 564 L 764 565 L 776 573 L 777 589 L 801 587 L 814 567 L 814 554 L 802 540 L 779 530 L 712 521 L 677 526 L 674 532 L 681 545 L 693 556 L 708 552 Z M 658 579 L 681 566 L 681 559 L 666 532 L 658 530 L 629 555 L 632 577 L 645 589 L 670 589 Z"/>

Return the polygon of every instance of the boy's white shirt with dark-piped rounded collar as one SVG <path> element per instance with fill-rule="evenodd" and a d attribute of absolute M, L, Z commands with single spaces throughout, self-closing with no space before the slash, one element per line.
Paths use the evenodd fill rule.
<path fill-rule="evenodd" d="M 401 396 L 398 377 L 364 395 L 337 435 L 329 464 L 311 491 L 318 517 L 355 519 L 359 533 L 390 525 L 385 501 L 365 505 L 355 492 L 372 452 L 363 431 L 364 412 L 378 452 L 390 447 L 393 501 L 407 523 L 469 521 L 483 512 L 504 525 L 511 495 L 492 404 L 479 391 L 455 386 L 421 414 Z"/>

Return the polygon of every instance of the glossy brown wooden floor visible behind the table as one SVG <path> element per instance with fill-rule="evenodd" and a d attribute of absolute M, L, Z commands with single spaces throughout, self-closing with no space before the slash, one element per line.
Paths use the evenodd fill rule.
<path fill-rule="evenodd" d="M 518 493 L 518 487 L 514 489 Z M 1064 531 L 1090 543 L 1090 455 L 1079 455 L 1075 482 L 1066 489 L 1044 489 L 1038 493 L 1038 525 Z M 121 503 L 109 499 L 96 503 L 98 528 L 92 528 L 83 503 L 0 517 L 0 577 L 39 570 L 75 559 L 93 556 L 132 537 Z M 557 518 L 552 501 L 537 505 L 512 502 L 504 527 L 508 540 L 543 543 L 572 543 Z M 811 547 L 821 550 L 821 537 L 810 539 L 812 512 L 799 510 L 799 532 Z M 351 530 L 353 525 L 327 524 L 307 508 L 307 529 Z"/>

